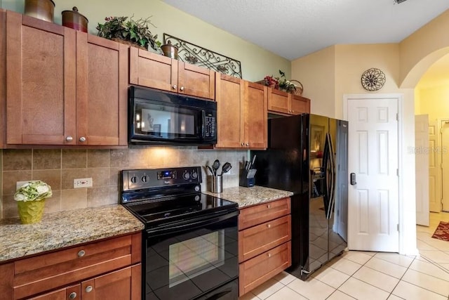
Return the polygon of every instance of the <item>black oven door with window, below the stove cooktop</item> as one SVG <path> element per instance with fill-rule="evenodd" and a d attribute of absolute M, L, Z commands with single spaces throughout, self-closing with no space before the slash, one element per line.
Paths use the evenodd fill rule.
<path fill-rule="evenodd" d="M 147 230 L 146 299 L 237 299 L 239 211 Z"/>

